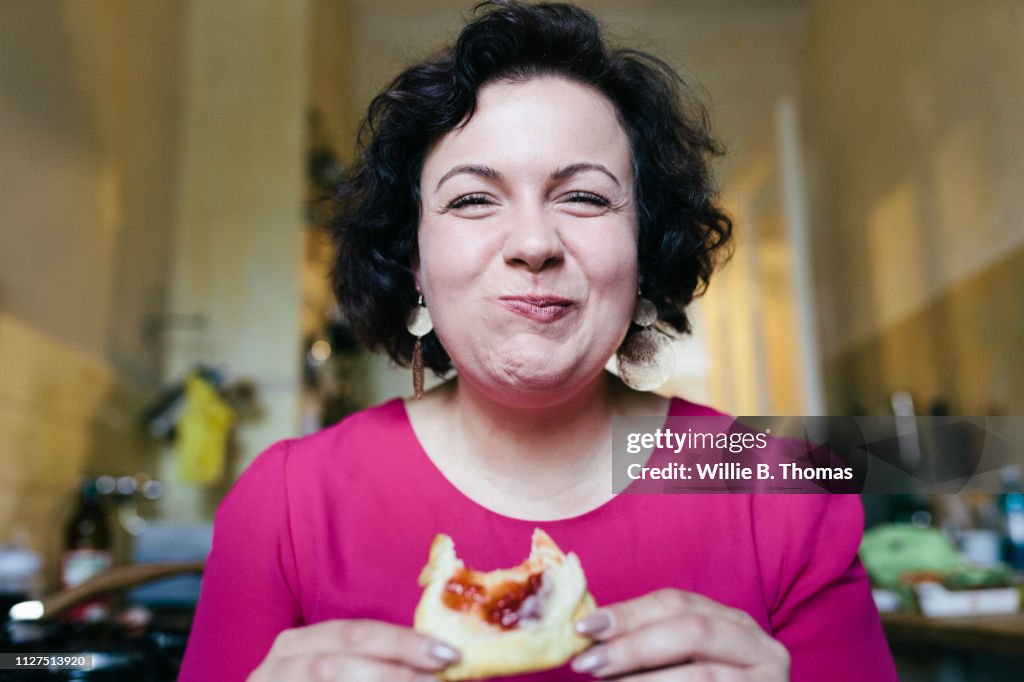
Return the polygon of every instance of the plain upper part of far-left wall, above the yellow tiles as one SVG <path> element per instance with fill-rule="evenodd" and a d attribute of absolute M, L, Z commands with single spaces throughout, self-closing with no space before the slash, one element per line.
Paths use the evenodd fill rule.
<path fill-rule="evenodd" d="M 166 299 L 180 7 L 5 3 L 0 306 L 136 382 Z"/>

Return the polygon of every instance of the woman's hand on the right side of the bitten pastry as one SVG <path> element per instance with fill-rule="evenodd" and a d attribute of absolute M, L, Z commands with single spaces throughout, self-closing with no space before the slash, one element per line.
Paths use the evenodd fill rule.
<path fill-rule="evenodd" d="M 745 611 L 659 590 L 591 613 L 577 630 L 592 646 L 579 673 L 640 682 L 785 682 L 790 653 Z"/>

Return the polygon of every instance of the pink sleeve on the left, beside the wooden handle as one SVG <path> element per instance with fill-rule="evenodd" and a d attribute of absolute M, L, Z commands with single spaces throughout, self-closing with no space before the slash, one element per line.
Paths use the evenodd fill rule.
<path fill-rule="evenodd" d="M 179 682 L 244 681 L 301 623 L 287 458 L 287 442 L 260 455 L 217 510 Z"/>

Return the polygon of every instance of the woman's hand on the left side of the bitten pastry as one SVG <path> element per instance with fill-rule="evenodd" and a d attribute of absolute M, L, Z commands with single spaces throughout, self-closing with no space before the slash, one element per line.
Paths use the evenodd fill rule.
<path fill-rule="evenodd" d="M 459 660 L 453 647 L 380 621 L 327 621 L 278 635 L 247 682 L 434 682 Z"/>

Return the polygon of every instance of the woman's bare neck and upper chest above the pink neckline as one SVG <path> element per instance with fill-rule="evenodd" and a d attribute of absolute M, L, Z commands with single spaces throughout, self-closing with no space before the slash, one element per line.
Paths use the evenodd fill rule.
<path fill-rule="evenodd" d="M 465 379 L 407 403 L 420 442 L 460 491 L 517 518 L 572 516 L 611 495 L 611 419 L 667 400 L 602 374 L 561 400 L 509 406 Z"/>

